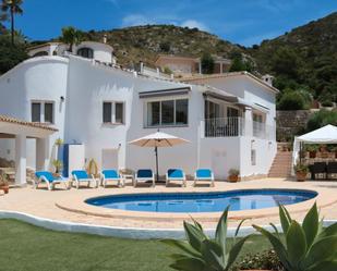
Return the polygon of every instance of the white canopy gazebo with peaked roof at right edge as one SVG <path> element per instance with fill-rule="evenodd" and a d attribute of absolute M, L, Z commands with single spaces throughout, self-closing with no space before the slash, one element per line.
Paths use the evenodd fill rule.
<path fill-rule="evenodd" d="M 328 124 L 308 134 L 294 137 L 292 165 L 296 164 L 299 158 L 301 144 L 337 144 L 337 127 Z"/>

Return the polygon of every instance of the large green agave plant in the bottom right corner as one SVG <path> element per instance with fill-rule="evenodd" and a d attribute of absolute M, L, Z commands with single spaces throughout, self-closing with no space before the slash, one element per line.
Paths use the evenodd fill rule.
<path fill-rule="evenodd" d="M 284 235 L 270 223 L 275 234 L 253 225 L 266 236 L 287 271 L 336 271 L 337 270 L 337 223 L 323 227 L 317 206 L 310 209 L 302 225 L 292 220 L 288 210 L 279 207 Z"/>

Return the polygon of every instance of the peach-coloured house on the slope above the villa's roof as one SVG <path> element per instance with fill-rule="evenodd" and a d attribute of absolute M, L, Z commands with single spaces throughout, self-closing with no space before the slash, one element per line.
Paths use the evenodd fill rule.
<path fill-rule="evenodd" d="M 214 58 L 214 73 L 226 73 L 229 71 L 231 61 L 220 57 Z M 177 76 L 184 76 L 191 74 L 202 74 L 201 58 L 188 58 L 169 54 L 159 54 L 156 59 L 155 65 L 161 71 L 169 69 Z"/>

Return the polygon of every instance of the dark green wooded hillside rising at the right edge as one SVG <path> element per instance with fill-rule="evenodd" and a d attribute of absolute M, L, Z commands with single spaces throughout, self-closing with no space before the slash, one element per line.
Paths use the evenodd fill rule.
<path fill-rule="evenodd" d="M 337 12 L 248 49 L 261 73 L 280 89 L 303 88 L 323 102 L 337 101 Z"/>

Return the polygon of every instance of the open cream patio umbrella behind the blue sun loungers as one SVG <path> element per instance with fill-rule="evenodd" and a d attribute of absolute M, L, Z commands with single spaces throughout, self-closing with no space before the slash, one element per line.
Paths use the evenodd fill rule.
<path fill-rule="evenodd" d="M 141 137 L 139 139 L 132 140 L 129 144 L 136 145 L 140 147 L 152 147 L 155 148 L 156 155 L 156 182 L 159 178 L 158 172 L 158 147 L 173 147 L 176 145 L 189 143 L 189 140 L 169 135 L 161 132 L 156 132 L 154 134 L 149 134 L 147 136 Z"/>

